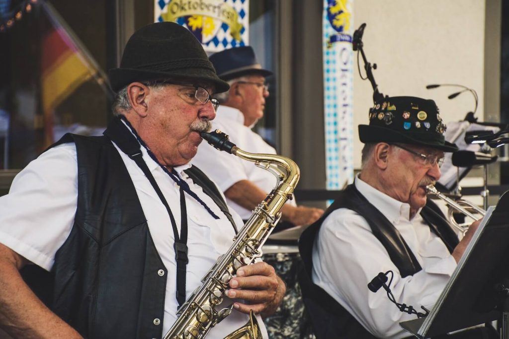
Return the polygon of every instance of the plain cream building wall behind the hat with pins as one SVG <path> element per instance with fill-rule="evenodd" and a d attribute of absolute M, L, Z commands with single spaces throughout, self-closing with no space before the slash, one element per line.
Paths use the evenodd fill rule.
<path fill-rule="evenodd" d="M 462 84 L 477 91 L 476 116 L 484 121 L 485 5 L 478 0 L 354 0 L 354 25 L 366 23 L 364 52 L 378 66 L 374 77 L 381 93 L 433 99 L 447 122 L 463 120 L 474 109 L 473 96 L 449 100 L 456 88 L 426 85 Z M 368 123 L 372 96 L 371 83 L 356 71 L 354 168 L 360 167 L 362 149 L 356 126 Z"/>

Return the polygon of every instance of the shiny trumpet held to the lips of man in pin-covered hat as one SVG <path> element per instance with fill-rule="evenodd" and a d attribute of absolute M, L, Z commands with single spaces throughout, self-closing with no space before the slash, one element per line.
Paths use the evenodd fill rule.
<path fill-rule="evenodd" d="M 470 223 L 462 223 L 459 224 L 453 217 L 453 213 L 455 210 L 465 214 L 468 218 L 477 221 L 484 217 L 486 214 L 486 211 L 479 206 L 473 204 L 470 201 L 467 200 L 453 200 L 448 197 L 446 197 L 444 194 L 440 193 L 435 186 L 432 184 L 429 184 L 426 186 L 426 191 L 428 194 L 433 194 L 437 196 L 438 198 L 445 201 L 445 203 L 448 206 L 447 210 L 447 221 L 449 224 L 451 224 L 454 228 L 462 232 L 463 235 L 468 231 L 468 227 L 470 226 Z"/>

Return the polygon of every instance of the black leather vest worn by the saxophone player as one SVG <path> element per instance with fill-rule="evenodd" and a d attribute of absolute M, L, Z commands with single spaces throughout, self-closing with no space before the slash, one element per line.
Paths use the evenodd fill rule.
<path fill-rule="evenodd" d="M 67 134 L 57 144 L 65 142 L 75 142 L 78 159 L 74 225 L 52 271 L 30 265 L 24 278 L 84 337 L 161 337 L 167 270 L 122 158 L 106 136 Z M 196 167 L 186 172 L 229 214 L 203 172 Z"/>

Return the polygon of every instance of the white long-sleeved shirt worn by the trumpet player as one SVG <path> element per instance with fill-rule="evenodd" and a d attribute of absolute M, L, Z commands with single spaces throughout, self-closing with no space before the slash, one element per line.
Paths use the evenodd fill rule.
<path fill-rule="evenodd" d="M 406 337 L 408 332 L 399 323 L 416 316 L 400 312 L 384 290 L 373 293 L 367 284 L 379 272 L 392 270 L 394 279 L 390 289 L 395 300 L 412 305 L 418 312 L 422 311 L 421 305 L 431 309 L 456 268 L 456 261 L 422 220 L 420 210 L 409 220 L 409 204 L 385 195 L 358 176 L 355 187 L 401 233 L 422 270 L 402 278 L 366 220 L 350 209 L 340 208 L 325 219 L 315 240 L 313 282 L 373 335 Z"/>

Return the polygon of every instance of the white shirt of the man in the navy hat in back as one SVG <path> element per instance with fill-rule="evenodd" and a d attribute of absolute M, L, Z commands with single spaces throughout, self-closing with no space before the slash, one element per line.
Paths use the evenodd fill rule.
<path fill-rule="evenodd" d="M 276 154 L 274 147 L 267 144 L 261 136 L 244 126 L 244 115 L 238 109 L 219 106 L 216 117 L 212 120 L 212 130 L 219 129 L 230 136 L 230 141 L 242 150 L 251 153 Z M 228 152 L 218 152 L 207 142 L 202 142 L 198 152 L 193 158 L 193 164 L 204 171 L 222 192 L 228 190 L 240 180 L 249 180 L 265 192 L 270 192 L 276 186 L 275 176 L 267 170 L 231 155 Z M 252 211 L 246 209 L 227 198 L 228 206 L 240 214 L 243 220 L 247 220 Z M 287 203 L 295 205 L 294 200 Z"/>

